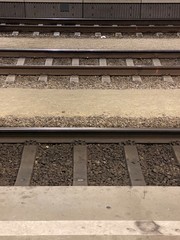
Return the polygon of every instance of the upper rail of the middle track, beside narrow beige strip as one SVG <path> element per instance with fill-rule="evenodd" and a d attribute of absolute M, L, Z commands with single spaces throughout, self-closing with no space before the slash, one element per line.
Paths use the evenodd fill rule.
<path fill-rule="evenodd" d="M 179 58 L 179 50 L 0 49 L 0 57 Z"/>

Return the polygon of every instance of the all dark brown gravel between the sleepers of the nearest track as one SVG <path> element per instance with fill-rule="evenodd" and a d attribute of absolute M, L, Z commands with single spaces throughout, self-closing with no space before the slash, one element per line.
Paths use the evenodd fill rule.
<path fill-rule="evenodd" d="M 170 144 L 137 144 L 149 186 L 180 186 L 180 164 Z M 0 144 L 0 186 L 15 184 L 23 144 Z M 88 186 L 130 186 L 124 144 L 87 144 Z M 39 144 L 31 186 L 72 186 L 73 144 Z"/>

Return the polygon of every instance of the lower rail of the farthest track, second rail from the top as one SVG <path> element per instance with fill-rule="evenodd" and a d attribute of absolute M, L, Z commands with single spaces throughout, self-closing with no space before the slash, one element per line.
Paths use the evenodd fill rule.
<path fill-rule="evenodd" d="M 176 33 L 180 31 L 179 26 L 55 26 L 55 25 L 0 25 L 1 32 L 81 32 L 81 33 Z"/>

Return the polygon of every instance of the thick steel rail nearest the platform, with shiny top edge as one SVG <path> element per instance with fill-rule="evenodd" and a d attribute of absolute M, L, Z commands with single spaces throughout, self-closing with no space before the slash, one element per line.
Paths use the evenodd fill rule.
<path fill-rule="evenodd" d="M 0 128 L 0 142 L 87 143 L 135 141 L 136 143 L 173 143 L 180 141 L 180 129 L 155 128 Z"/>

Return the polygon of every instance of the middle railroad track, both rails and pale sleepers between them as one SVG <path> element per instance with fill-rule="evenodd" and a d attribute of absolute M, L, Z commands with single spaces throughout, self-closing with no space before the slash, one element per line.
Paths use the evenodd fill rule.
<path fill-rule="evenodd" d="M 78 76 L 164 76 L 180 75 L 179 66 L 162 66 L 160 59 L 177 59 L 179 51 L 108 51 L 108 50 L 13 50 L 1 49 L 0 57 L 19 58 L 16 65 L 0 65 L 4 75 L 78 75 Z M 24 65 L 25 57 L 47 58 L 45 65 Z M 53 58 L 72 58 L 72 65 L 53 65 Z M 79 65 L 79 58 L 98 58 L 99 65 Z M 125 59 L 125 66 L 107 65 L 107 59 Z M 155 59 L 151 66 L 135 65 L 133 58 Z"/>

